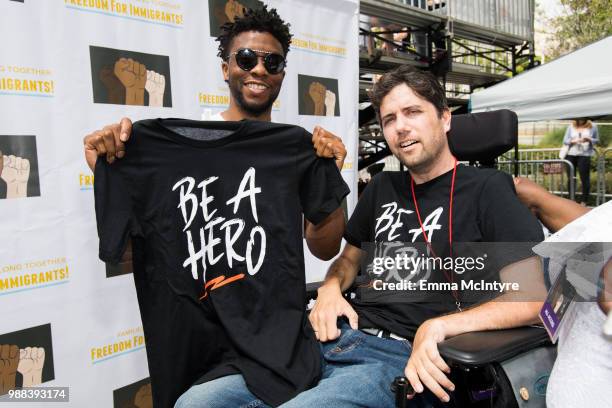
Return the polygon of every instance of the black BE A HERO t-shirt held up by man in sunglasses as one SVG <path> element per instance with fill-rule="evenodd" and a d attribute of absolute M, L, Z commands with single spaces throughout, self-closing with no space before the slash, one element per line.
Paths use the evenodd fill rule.
<path fill-rule="evenodd" d="M 313 386 L 319 348 L 305 313 L 303 218 L 349 189 L 311 135 L 258 121 L 136 122 L 126 157 L 95 169 L 100 259 L 129 237 L 153 399 L 242 373 L 278 405 Z"/>

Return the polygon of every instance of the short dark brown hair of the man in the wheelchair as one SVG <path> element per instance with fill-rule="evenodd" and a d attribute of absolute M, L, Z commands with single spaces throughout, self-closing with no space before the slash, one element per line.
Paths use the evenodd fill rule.
<path fill-rule="evenodd" d="M 380 104 L 385 96 L 398 85 L 406 84 L 421 98 L 429 101 L 438 111 L 438 116 L 448 109 L 446 92 L 440 82 L 431 73 L 401 65 L 385 73 L 374 84 L 370 92 L 370 100 L 380 119 Z"/>

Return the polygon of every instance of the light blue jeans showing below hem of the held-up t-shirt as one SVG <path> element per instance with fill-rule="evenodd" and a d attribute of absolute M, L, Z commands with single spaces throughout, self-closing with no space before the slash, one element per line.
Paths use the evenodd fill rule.
<path fill-rule="evenodd" d="M 249 391 L 240 374 L 217 378 L 189 388 L 174 408 L 269 408 Z"/>

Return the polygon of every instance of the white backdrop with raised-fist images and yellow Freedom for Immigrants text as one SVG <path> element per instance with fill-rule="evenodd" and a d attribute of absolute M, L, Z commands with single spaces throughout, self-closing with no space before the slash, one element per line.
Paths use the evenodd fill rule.
<path fill-rule="evenodd" d="M 353 188 L 358 1 L 265 3 L 294 35 L 272 118 L 341 136 Z M 0 0 L 0 395 L 65 386 L 70 406 L 150 406 L 133 276 L 98 260 L 82 140 L 123 116 L 206 119 L 226 109 L 214 38 L 258 4 Z M 122 59 L 142 64 L 141 77 L 122 75 Z M 326 265 L 308 256 L 307 279 Z"/>

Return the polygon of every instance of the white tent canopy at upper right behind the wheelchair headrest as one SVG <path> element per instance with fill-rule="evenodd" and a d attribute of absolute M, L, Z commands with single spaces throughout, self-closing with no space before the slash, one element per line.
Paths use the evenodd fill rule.
<path fill-rule="evenodd" d="M 480 92 L 472 112 L 510 109 L 520 122 L 612 113 L 612 36 Z"/>

